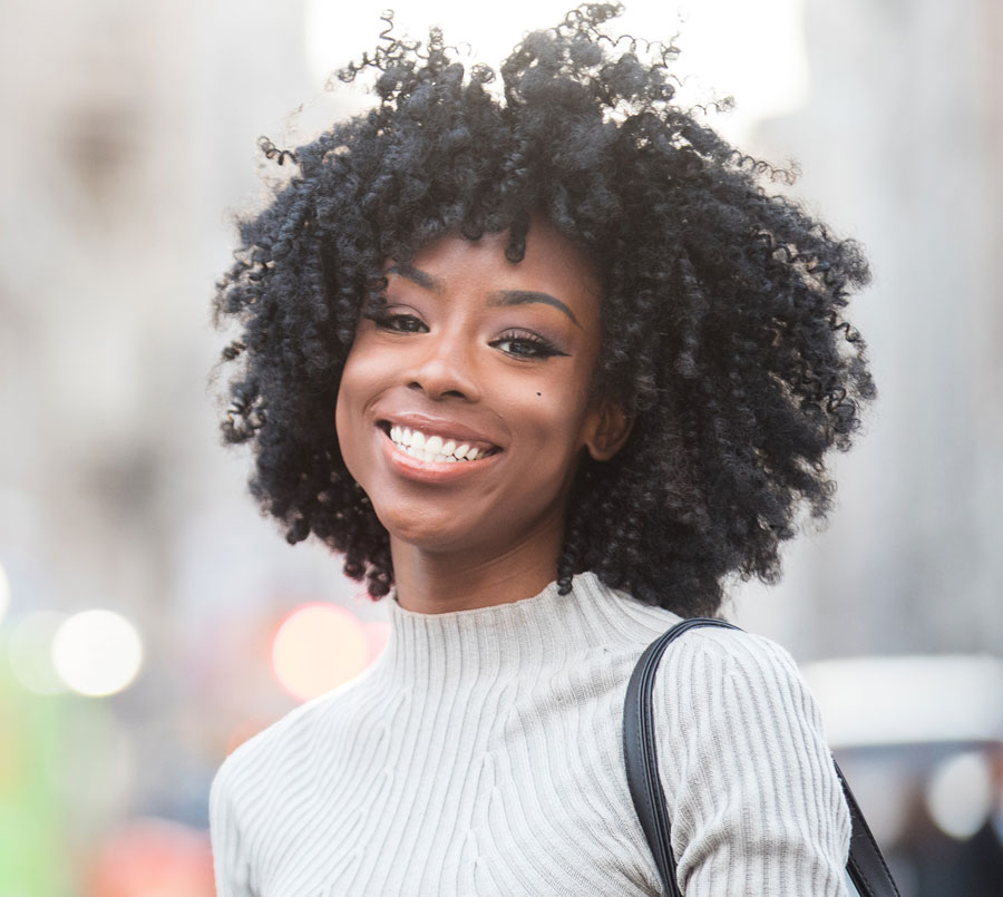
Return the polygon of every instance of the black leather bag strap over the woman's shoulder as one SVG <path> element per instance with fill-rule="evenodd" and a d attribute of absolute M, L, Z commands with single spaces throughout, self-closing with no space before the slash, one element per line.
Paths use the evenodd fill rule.
<path fill-rule="evenodd" d="M 627 784 L 668 897 L 682 897 L 682 891 L 675 880 L 669 810 L 659 781 L 652 690 L 659 661 L 665 649 L 680 635 L 697 626 L 739 628 L 723 620 L 708 617 L 684 620 L 674 625 L 655 638 L 641 655 L 627 684 L 623 706 L 623 752 L 626 760 Z M 849 805 L 853 825 L 849 859 L 846 866 L 849 879 L 861 897 L 899 897 L 885 858 L 838 766 L 836 772 L 843 784 L 846 802 Z"/>

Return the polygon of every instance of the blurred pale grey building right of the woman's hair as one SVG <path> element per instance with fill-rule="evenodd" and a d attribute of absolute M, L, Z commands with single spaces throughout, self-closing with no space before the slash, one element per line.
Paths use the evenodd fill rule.
<path fill-rule="evenodd" d="M 793 548 L 765 604 L 804 654 L 999 653 L 1003 11 L 810 0 L 805 36 L 811 99 L 758 138 L 868 252 L 851 308 L 879 396 L 838 461 L 831 527 Z"/>

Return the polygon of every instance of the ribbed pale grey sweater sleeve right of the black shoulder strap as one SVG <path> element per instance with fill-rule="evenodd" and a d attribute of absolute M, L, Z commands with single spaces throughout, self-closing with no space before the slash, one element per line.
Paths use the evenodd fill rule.
<path fill-rule="evenodd" d="M 654 700 L 685 897 L 846 897 L 849 810 L 791 656 L 747 633 L 689 632 Z"/>

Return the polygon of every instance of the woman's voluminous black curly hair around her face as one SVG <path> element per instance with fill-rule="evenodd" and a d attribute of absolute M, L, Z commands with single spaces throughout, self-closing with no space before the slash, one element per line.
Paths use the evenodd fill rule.
<path fill-rule="evenodd" d="M 294 150 L 294 174 L 240 222 L 217 284 L 235 367 L 223 419 L 250 441 L 252 494 L 296 543 L 311 533 L 386 595 L 389 536 L 345 468 L 334 402 L 360 309 L 447 232 L 508 232 L 523 257 L 530 215 L 587 248 L 602 276 L 596 389 L 633 418 L 624 449 L 577 471 L 555 575 L 593 571 L 681 615 L 718 613 L 729 575 L 779 576 L 798 511 L 822 520 L 829 449 L 847 449 L 874 396 L 846 322 L 865 284 L 859 247 L 793 201 L 787 176 L 743 156 L 673 103 L 671 45 L 614 39 L 619 4 L 586 4 L 528 35 L 495 71 L 469 72 L 432 29 L 392 33 L 339 72 L 374 70 L 379 101 Z"/>

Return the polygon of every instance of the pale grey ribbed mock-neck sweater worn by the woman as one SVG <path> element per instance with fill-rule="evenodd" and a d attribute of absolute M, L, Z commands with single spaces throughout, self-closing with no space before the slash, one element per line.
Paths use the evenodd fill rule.
<path fill-rule="evenodd" d="M 388 603 L 390 641 L 361 676 L 223 763 L 220 897 L 659 894 L 622 713 L 641 652 L 678 617 L 592 574 L 474 611 Z M 655 713 L 686 897 L 846 894 L 848 811 L 782 649 L 688 633 Z"/>

